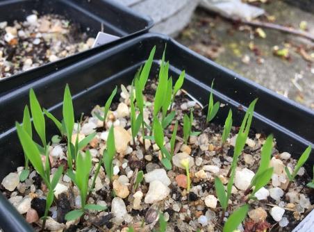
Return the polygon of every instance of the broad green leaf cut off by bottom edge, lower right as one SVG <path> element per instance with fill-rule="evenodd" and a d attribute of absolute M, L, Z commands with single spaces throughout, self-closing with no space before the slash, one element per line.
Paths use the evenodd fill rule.
<path fill-rule="evenodd" d="M 249 211 L 249 205 L 245 204 L 238 208 L 238 210 L 234 211 L 230 217 L 226 220 L 224 224 L 224 229 L 222 232 L 232 232 L 235 231 L 238 226 L 243 222 L 245 217 L 247 216 L 247 211 Z"/>

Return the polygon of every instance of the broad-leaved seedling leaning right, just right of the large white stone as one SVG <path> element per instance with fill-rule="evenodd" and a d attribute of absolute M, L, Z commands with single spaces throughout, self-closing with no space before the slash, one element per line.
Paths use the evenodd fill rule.
<path fill-rule="evenodd" d="M 247 188 L 247 190 L 245 190 L 245 195 L 249 193 L 249 191 L 251 190 L 251 188 L 253 186 L 256 186 L 256 184 L 258 182 L 263 180 L 264 174 L 269 174 L 268 172 L 270 172 L 270 169 L 268 167 L 270 167 L 270 158 L 272 157 L 272 147 L 273 147 L 272 141 L 273 140 L 274 140 L 274 138 L 272 135 L 269 135 L 267 137 L 267 139 L 265 140 L 265 143 L 263 144 L 263 147 L 261 150 L 260 165 L 257 169 L 256 174 L 254 175 L 253 179 L 251 180 L 251 184 L 249 185 L 249 188 Z M 266 170 L 268 170 L 268 171 L 266 173 L 264 173 Z M 270 176 L 272 176 L 272 175 L 270 175 Z M 257 192 L 257 191 L 258 190 L 256 190 L 256 188 L 255 188 L 254 192 Z M 251 195 L 254 196 L 254 194 L 251 194 Z"/>

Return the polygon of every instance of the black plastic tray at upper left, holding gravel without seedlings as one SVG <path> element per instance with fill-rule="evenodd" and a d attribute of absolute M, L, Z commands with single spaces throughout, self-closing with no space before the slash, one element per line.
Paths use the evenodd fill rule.
<path fill-rule="evenodd" d="M 79 25 L 81 31 L 94 38 L 101 30 L 120 38 L 129 38 L 144 33 L 153 26 L 150 17 L 135 13 L 117 1 L 110 0 L 1 0 L 0 22 L 6 21 L 10 24 L 15 20 L 24 21 L 33 10 L 36 10 L 39 15 L 47 13 L 63 15 L 70 22 Z M 73 56 L 76 55 L 69 58 Z M 46 69 L 46 66 L 42 65 L 35 69 L 42 69 L 47 73 L 50 69 Z M 54 69 L 57 67 L 55 66 Z M 3 86 L 0 88 L 0 93 L 31 80 L 32 76 L 29 73 L 31 72 L 26 71 L 1 78 L 0 83 Z"/>

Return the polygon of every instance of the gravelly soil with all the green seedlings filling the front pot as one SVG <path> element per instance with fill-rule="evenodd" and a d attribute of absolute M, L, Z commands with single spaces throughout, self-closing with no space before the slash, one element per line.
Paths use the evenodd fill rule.
<path fill-rule="evenodd" d="M 31 90 L 16 124 L 25 165 L 3 179 L 3 194 L 36 229 L 291 231 L 313 204 L 301 168 L 311 147 L 297 161 L 279 153 L 272 135 L 254 133 L 257 99 L 240 125 L 233 117 L 242 107 L 221 110 L 229 113 L 216 125 L 228 105 L 214 102 L 213 83 L 204 114 L 181 90 L 185 72 L 169 75 L 165 51 L 152 74 L 155 50 L 122 92 L 77 122 L 68 86 L 63 119 Z M 45 117 L 59 131 L 51 142 Z"/>

